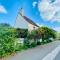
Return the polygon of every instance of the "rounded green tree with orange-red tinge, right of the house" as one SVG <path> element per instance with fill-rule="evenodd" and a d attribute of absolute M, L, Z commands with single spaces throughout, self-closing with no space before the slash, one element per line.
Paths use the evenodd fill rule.
<path fill-rule="evenodd" d="M 38 31 L 38 36 L 40 36 L 43 41 L 49 38 L 56 38 L 56 34 L 55 34 L 56 31 L 48 27 L 40 27 L 38 28 L 37 31 Z"/>

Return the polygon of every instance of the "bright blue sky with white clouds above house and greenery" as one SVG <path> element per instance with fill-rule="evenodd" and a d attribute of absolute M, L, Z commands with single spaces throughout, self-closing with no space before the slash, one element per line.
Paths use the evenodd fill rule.
<path fill-rule="evenodd" d="M 60 31 L 59 0 L 0 0 L 0 23 L 14 26 L 20 8 L 39 26 Z"/>

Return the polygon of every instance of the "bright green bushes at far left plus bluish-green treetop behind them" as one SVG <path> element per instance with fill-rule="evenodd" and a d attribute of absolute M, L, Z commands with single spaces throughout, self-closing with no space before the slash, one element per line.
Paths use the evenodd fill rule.
<path fill-rule="evenodd" d="M 0 25 L 0 58 L 16 51 L 16 29 Z"/>

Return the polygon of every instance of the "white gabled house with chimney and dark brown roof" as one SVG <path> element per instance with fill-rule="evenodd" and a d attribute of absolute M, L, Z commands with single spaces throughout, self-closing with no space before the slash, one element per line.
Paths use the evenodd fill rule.
<path fill-rule="evenodd" d="M 21 8 L 17 15 L 14 27 L 20 29 L 28 29 L 28 31 L 31 32 L 32 30 L 37 29 L 39 26 L 31 19 L 24 16 L 24 10 Z"/>

